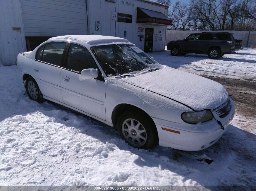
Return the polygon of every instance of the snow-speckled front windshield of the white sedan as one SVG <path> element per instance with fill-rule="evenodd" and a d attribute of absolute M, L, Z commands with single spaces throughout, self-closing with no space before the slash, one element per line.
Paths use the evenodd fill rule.
<path fill-rule="evenodd" d="M 131 44 L 94 46 L 91 50 L 107 76 L 159 67 L 158 62 Z"/>

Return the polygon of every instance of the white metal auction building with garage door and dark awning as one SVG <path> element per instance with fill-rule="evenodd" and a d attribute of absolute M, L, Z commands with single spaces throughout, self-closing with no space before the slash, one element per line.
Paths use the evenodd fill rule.
<path fill-rule="evenodd" d="M 0 62 L 15 64 L 50 37 L 70 34 L 126 38 L 145 52 L 165 49 L 168 6 L 149 0 L 0 1 Z"/>

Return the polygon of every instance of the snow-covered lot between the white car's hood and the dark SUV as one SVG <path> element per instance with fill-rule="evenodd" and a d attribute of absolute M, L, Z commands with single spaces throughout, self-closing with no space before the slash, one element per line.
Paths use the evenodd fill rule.
<path fill-rule="evenodd" d="M 224 76 L 225 78 L 249 78 L 256 81 L 256 49 L 244 48 L 234 54 L 225 54 L 219 59 L 209 59 L 208 55 L 186 54 L 171 56 L 170 51 L 149 53 L 160 64 L 182 69 L 194 74 Z"/>

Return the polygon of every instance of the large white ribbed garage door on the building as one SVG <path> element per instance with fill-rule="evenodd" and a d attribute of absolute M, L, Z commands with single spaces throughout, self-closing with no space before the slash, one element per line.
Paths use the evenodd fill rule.
<path fill-rule="evenodd" d="M 25 36 L 88 34 L 86 0 L 21 0 Z"/>

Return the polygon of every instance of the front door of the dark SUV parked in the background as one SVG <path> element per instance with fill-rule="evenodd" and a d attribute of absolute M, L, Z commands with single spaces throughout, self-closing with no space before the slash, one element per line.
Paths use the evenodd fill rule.
<path fill-rule="evenodd" d="M 182 47 L 184 52 L 198 53 L 197 43 L 199 36 L 200 34 L 191 34 L 185 39 Z"/>

